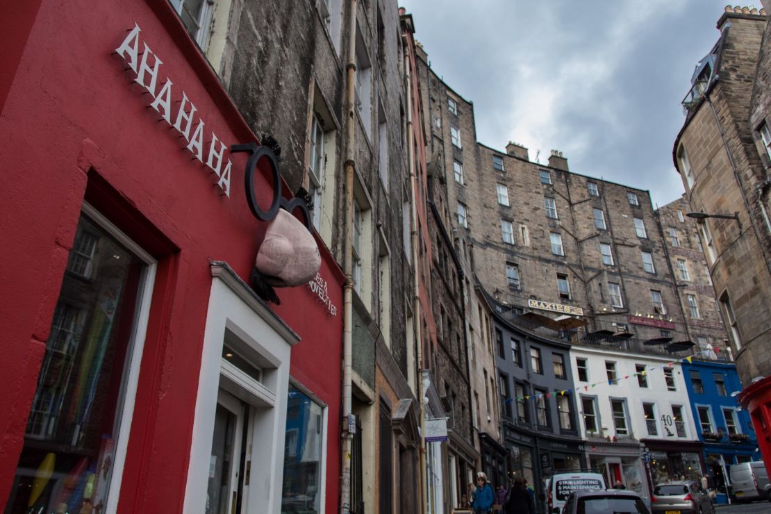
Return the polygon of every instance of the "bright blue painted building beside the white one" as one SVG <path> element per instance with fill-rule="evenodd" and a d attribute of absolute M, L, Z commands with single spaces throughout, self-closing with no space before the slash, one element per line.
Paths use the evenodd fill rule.
<path fill-rule="evenodd" d="M 739 407 L 742 383 L 732 362 L 683 361 L 682 372 L 696 423 L 704 443 L 710 486 L 726 491 L 728 468 L 736 462 L 761 460 L 749 414 Z M 719 494 L 725 502 L 725 495 Z"/>

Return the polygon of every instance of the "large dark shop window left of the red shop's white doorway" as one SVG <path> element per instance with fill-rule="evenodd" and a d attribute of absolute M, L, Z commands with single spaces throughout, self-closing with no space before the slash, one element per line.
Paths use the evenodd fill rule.
<path fill-rule="evenodd" d="M 154 271 L 84 205 L 5 512 L 116 512 Z"/>

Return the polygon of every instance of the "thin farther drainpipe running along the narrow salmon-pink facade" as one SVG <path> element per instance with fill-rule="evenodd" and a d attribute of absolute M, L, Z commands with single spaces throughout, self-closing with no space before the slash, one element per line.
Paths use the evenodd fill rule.
<path fill-rule="evenodd" d="M 404 51 L 407 54 L 409 52 L 409 46 L 404 45 Z M 414 300 L 412 302 L 415 313 L 412 315 L 412 324 L 414 328 L 412 331 L 415 334 L 416 339 L 416 365 L 418 370 L 423 369 L 423 325 L 420 323 L 422 317 L 420 303 L 420 265 L 418 261 L 418 199 L 416 197 L 416 176 L 415 176 L 415 137 L 413 136 L 414 128 L 412 127 L 412 69 L 409 55 L 405 55 L 405 80 L 407 82 L 407 160 L 409 163 L 409 185 L 410 193 L 412 193 L 412 205 L 410 210 L 410 240 L 412 244 L 412 273 L 415 275 L 415 287 L 414 287 Z M 423 393 L 423 373 L 416 373 L 416 385 L 418 403 L 420 405 L 420 486 L 423 491 L 421 492 L 421 500 L 423 502 L 423 512 L 429 512 L 429 487 L 428 487 L 428 472 L 426 469 L 426 401 L 424 401 Z"/>

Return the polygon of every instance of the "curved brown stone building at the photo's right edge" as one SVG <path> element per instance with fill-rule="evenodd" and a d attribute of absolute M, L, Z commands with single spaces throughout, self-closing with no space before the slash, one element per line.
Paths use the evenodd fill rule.
<path fill-rule="evenodd" d="M 771 142 L 766 12 L 726 7 L 683 100 L 672 157 L 692 209 L 761 452 L 771 462 Z"/>

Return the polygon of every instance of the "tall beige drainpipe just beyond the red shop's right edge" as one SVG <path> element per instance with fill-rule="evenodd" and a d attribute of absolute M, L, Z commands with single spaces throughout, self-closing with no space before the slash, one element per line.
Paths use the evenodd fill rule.
<path fill-rule="evenodd" d="M 348 431 L 351 408 L 351 373 L 353 361 L 353 174 L 355 173 L 355 72 L 356 72 L 356 0 L 350 0 L 348 12 L 351 25 L 348 29 L 348 66 L 345 69 L 345 285 L 343 286 L 342 310 L 342 430 L 340 466 L 340 513 L 348 514 L 351 509 L 351 443 L 353 435 Z"/>

